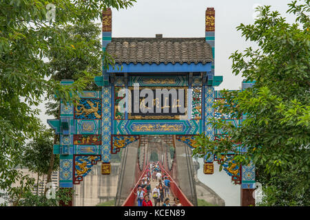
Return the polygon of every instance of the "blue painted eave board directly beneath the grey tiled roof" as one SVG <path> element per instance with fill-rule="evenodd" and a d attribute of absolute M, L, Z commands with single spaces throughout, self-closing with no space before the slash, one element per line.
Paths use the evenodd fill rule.
<path fill-rule="evenodd" d="M 137 63 L 134 65 L 133 63 L 125 64 L 123 63 L 123 69 L 121 69 L 121 65 L 116 65 L 115 67 L 119 68 L 112 68 L 112 66 L 109 67 L 107 70 L 108 73 L 146 73 L 146 72 L 211 72 L 211 62 L 206 63 L 203 65 L 202 63 L 198 64 L 187 64 L 187 63 L 168 63 L 165 65 L 165 63 L 161 63 L 157 65 L 156 63 L 152 63 L 151 65 L 149 63 L 145 63 L 142 65 L 141 63 Z"/>

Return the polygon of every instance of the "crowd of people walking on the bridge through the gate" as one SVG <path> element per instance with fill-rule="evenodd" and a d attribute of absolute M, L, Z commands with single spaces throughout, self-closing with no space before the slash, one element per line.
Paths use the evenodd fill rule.
<path fill-rule="evenodd" d="M 138 190 L 136 192 L 138 206 L 153 206 L 152 199 L 154 200 L 154 206 L 171 206 L 169 201 L 171 181 L 165 173 L 162 174 L 161 168 L 158 166 L 158 162 L 152 162 L 149 168 L 146 170 L 145 176 L 138 182 Z M 156 186 L 152 190 L 152 181 L 156 182 Z M 151 191 L 152 190 L 152 191 Z M 164 199 L 165 198 L 165 199 Z M 174 205 L 182 206 L 180 199 L 174 198 Z"/>

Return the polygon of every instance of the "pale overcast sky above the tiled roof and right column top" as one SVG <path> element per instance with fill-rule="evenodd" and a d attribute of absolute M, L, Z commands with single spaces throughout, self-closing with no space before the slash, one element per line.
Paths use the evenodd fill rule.
<path fill-rule="evenodd" d="M 236 27 L 254 22 L 255 5 L 271 5 L 283 16 L 288 0 L 137 0 L 129 10 L 112 9 L 112 37 L 204 37 L 205 10 L 216 10 L 216 75 L 223 83 L 216 89 L 238 89 L 242 78 L 231 74 L 229 56 L 251 45 Z M 293 21 L 291 19 L 291 21 Z M 254 46 L 254 45 L 251 45 Z"/>

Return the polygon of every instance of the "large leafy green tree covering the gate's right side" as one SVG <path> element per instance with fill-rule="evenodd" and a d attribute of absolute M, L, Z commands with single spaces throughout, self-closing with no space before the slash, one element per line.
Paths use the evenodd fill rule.
<path fill-rule="evenodd" d="M 238 164 L 254 162 L 257 180 L 264 180 L 265 188 L 277 188 L 272 197 L 284 199 L 283 205 L 307 205 L 300 195 L 307 197 L 310 177 L 309 0 L 300 5 L 297 1 L 289 3 L 287 12 L 296 16 L 296 23 L 292 24 L 277 11 L 271 12 L 270 6 L 258 10 L 260 17 L 253 25 L 240 24 L 237 28 L 245 39 L 257 43 L 258 50 L 250 47 L 230 57 L 234 74 L 242 73 L 246 80 L 256 83 L 244 91 L 224 90 L 226 102 L 214 104 L 223 113 L 233 112 L 236 118 L 246 118 L 238 127 L 212 119 L 214 128 L 223 129 L 227 135 L 220 141 L 200 135 L 194 154 L 204 156 L 211 151 L 220 157 L 234 151 Z M 237 151 L 236 143 L 247 146 L 247 153 Z M 297 184 L 290 186 L 298 191 L 294 198 L 285 184 L 278 184 L 285 181 L 288 172 L 296 173 L 298 179 Z"/>

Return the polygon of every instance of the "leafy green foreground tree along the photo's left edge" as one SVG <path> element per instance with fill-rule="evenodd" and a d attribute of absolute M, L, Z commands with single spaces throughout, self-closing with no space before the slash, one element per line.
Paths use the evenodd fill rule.
<path fill-rule="evenodd" d="M 32 106 L 38 106 L 42 97 L 50 94 L 73 100 L 76 91 L 83 90 L 93 77 L 92 72 L 85 71 L 66 87 L 51 77 L 50 65 L 43 58 L 50 54 L 61 54 L 64 60 L 85 56 L 87 43 L 73 45 L 67 41 L 64 27 L 100 19 L 107 7 L 128 8 L 134 1 L 0 2 L 0 189 L 11 190 L 23 177 L 14 169 L 21 164 L 20 148 L 40 131 L 38 111 Z M 49 3 L 55 6 L 54 21 L 47 17 Z M 109 63 L 107 58 L 103 59 L 104 66 Z"/>

